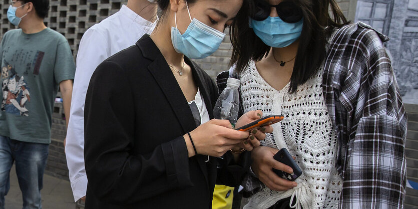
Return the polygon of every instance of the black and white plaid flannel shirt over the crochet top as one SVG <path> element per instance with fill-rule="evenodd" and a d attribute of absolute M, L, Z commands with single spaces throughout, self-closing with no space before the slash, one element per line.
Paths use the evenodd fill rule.
<path fill-rule="evenodd" d="M 358 22 L 339 29 L 331 40 L 323 93 L 338 138 L 339 208 L 403 208 L 406 114 L 382 44 L 388 38 Z M 221 73 L 220 91 L 228 76 L 238 77 Z M 243 184 L 264 186 L 251 175 Z"/>

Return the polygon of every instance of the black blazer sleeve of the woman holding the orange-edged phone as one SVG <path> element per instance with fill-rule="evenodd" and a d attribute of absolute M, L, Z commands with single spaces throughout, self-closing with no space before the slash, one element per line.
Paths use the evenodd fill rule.
<path fill-rule="evenodd" d="M 135 106 L 125 71 L 105 61 L 92 76 L 85 104 L 85 166 L 89 187 L 101 201 L 131 204 L 191 185 L 183 136 L 134 153 Z M 136 138 L 135 138 L 136 137 Z"/>

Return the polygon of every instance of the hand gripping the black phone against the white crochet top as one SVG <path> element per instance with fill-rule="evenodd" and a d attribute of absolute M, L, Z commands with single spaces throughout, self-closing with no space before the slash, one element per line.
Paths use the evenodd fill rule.
<path fill-rule="evenodd" d="M 260 179 L 267 187 L 276 191 L 285 191 L 297 186 L 297 183 L 279 177 L 273 172 L 272 168 L 282 170 L 287 173 L 293 172 L 290 166 L 273 158 L 278 151 L 278 149 L 266 146 L 254 148 L 251 152 L 251 158 L 253 160 L 251 168 L 257 175 L 258 179 Z"/>

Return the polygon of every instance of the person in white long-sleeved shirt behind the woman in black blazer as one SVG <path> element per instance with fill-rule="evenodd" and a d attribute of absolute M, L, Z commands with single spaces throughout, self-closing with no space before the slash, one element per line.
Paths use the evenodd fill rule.
<path fill-rule="evenodd" d="M 153 0 L 128 0 L 114 15 L 89 28 L 77 54 L 77 68 L 71 102 L 70 121 L 64 142 L 74 200 L 85 200 L 87 176 L 84 167 L 84 103 L 90 78 L 108 57 L 151 34 L 157 23 Z"/>

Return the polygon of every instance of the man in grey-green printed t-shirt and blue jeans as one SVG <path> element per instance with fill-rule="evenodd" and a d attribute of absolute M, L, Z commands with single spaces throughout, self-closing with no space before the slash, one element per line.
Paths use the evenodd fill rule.
<path fill-rule="evenodd" d="M 75 64 L 66 38 L 44 25 L 49 0 L 14 1 L 8 19 L 21 29 L 0 44 L 0 209 L 14 162 L 23 208 L 42 208 L 54 101 L 60 87 L 68 122 Z"/>

